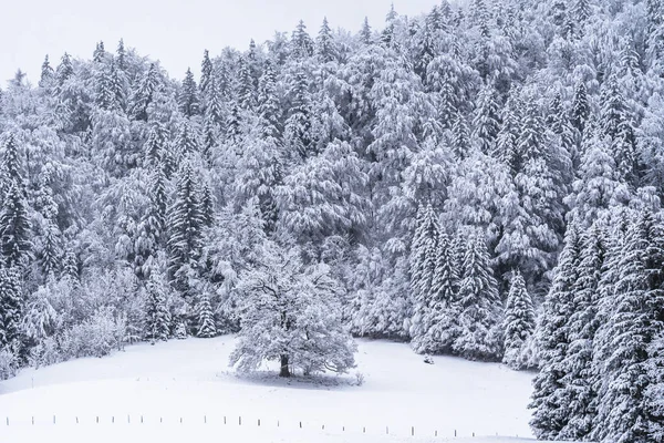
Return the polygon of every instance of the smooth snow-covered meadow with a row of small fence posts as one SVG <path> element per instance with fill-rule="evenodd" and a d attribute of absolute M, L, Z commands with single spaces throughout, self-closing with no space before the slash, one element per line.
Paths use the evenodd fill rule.
<path fill-rule="evenodd" d="M 447 357 L 426 364 L 407 344 L 360 340 L 357 369 L 347 375 L 239 377 L 228 368 L 234 343 L 221 337 L 138 344 L 103 359 L 24 370 L 0 382 L 0 442 L 531 437 L 532 375 L 501 364 Z"/>

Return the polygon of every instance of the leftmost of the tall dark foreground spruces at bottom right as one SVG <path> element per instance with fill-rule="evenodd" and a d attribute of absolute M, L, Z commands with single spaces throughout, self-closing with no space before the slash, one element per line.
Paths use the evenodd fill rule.
<path fill-rule="evenodd" d="M 563 360 L 570 344 L 569 319 L 574 309 L 574 289 L 579 279 L 581 235 L 575 224 L 568 226 L 564 248 L 553 270 L 553 282 L 543 306 L 537 331 L 540 372 L 533 381 L 530 425 L 538 439 L 556 440 L 569 421 L 567 403 L 561 398 L 566 368 Z"/>

